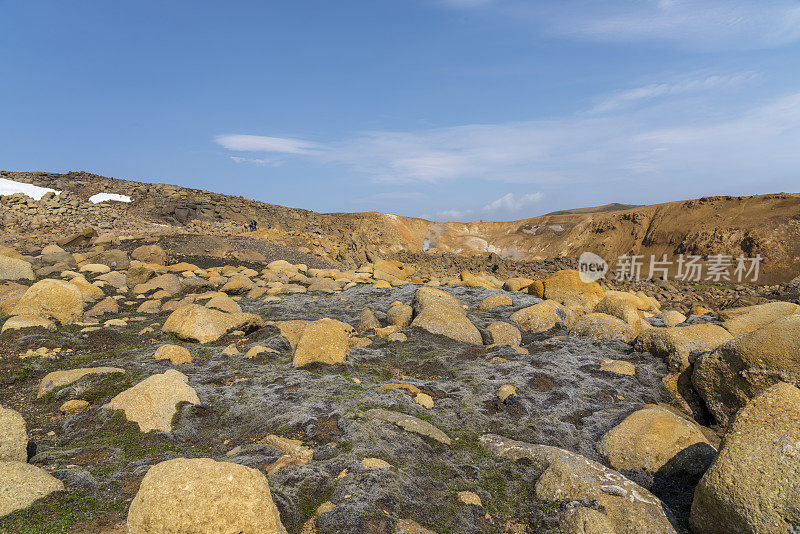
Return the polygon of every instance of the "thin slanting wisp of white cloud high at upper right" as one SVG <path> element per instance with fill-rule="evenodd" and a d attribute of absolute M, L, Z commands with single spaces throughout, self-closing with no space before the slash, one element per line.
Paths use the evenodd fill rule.
<path fill-rule="evenodd" d="M 620 91 L 603 98 L 592 109 L 592 112 L 608 113 L 609 111 L 616 111 L 626 106 L 654 100 L 656 98 L 735 87 L 757 77 L 758 74 L 755 72 L 724 75 L 711 74 L 683 77 L 666 83 L 643 85 L 641 87 Z"/>

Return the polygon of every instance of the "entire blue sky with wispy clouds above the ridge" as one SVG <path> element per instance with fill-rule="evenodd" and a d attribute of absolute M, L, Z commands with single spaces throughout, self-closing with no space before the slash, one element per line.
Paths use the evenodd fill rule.
<path fill-rule="evenodd" d="M 0 168 L 519 219 L 800 187 L 796 0 L 0 0 Z"/>

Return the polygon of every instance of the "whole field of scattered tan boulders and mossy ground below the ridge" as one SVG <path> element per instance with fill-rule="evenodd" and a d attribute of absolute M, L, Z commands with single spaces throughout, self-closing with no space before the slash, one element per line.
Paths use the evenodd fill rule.
<path fill-rule="evenodd" d="M 800 530 L 796 302 L 297 258 L 0 250 L 0 532 Z"/>

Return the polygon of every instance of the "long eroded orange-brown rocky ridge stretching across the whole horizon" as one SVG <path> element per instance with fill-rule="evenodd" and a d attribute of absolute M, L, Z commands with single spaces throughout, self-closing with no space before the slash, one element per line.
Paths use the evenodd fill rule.
<path fill-rule="evenodd" d="M 190 232 L 233 235 L 250 219 L 260 222 L 254 237 L 311 252 L 346 266 L 370 257 L 437 251 L 470 256 L 494 254 L 533 261 L 579 256 L 591 251 L 613 264 L 622 255 L 669 258 L 761 255 L 759 283 L 791 280 L 800 274 L 800 195 L 704 197 L 602 213 L 567 213 L 520 221 L 452 223 L 385 213 L 319 214 L 197 189 L 116 180 L 89 173 L 13 173 L 0 177 L 70 191 L 73 198 L 110 192 L 130 204 L 108 203 L 81 212 L 51 213 L 28 202 L 4 228 L 48 235 L 98 224 L 130 233 Z M 36 204 L 36 205 L 33 205 Z M 74 206 L 73 206 L 74 207 Z M 76 211 L 77 210 L 77 211 Z M 271 228 L 268 228 L 271 227 Z M 646 266 L 645 266 L 646 268 Z"/>

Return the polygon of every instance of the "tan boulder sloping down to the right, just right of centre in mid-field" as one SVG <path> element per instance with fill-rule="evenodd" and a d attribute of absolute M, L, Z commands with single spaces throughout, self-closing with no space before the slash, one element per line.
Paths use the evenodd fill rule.
<path fill-rule="evenodd" d="M 421 287 L 414 295 L 417 316 L 411 322 L 432 334 L 471 343 L 483 344 L 478 328 L 467 317 L 461 303 L 450 293 L 433 287 Z"/>

